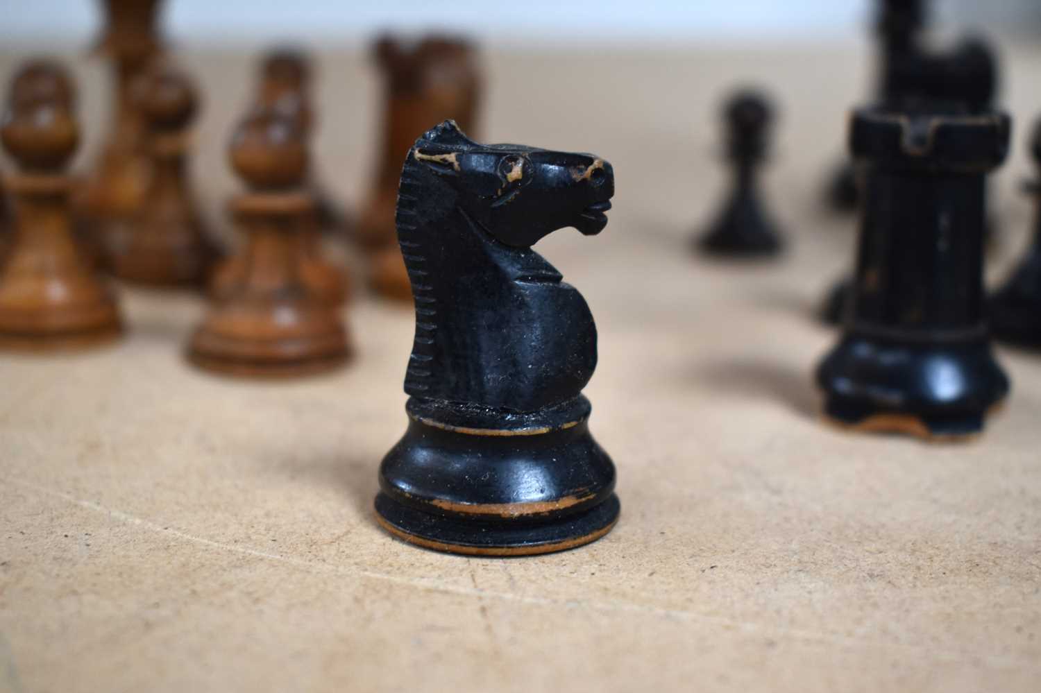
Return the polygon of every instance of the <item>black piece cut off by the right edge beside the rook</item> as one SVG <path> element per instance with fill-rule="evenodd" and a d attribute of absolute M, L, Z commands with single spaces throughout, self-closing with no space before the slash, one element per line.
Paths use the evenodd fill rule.
<path fill-rule="evenodd" d="M 1041 121 L 1034 129 L 1031 155 L 1041 171 Z M 990 326 L 1001 341 L 1041 349 L 1041 180 L 1027 183 L 1026 190 L 1037 205 L 1034 238 L 1012 276 L 991 297 Z"/>

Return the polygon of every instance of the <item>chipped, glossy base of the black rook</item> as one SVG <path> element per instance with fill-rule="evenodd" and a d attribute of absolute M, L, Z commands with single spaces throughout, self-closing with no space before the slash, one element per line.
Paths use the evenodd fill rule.
<path fill-rule="evenodd" d="M 1009 391 L 985 339 L 909 345 L 850 335 L 820 364 L 817 383 L 831 422 L 928 440 L 981 433 Z"/>

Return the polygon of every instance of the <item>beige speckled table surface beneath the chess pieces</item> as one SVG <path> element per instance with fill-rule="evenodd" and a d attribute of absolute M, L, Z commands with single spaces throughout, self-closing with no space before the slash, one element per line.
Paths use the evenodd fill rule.
<path fill-rule="evenodd" d="M 810 312 L 853 239 L 817 192 L 867 92 L 864 47 L 485 57 L 487 138 L 616 171 L 602 235 L 539 247 L 596 317 L 586 393 L 618 466 L 616 529 L 489 560 L 377 528 L 410 309 L 362 297 L 345 313 L 349 368 L 253 384 L 181 359 L 199 299 L 123 289 L 115 348 L 0 357 L 0 690 L 1041 690 L 1041 360 L 999 350 L 1013 393 L 970 444 L 817 419 L 810 371 L 834 335 Z M 357 52 L 321 59 L 318 158 L 356 206 L 377 83 Z M 1016 187 L 1041 112 L 1041 50 L 1005 59 L 1019 121 L 994 182 L 992 280 L 1026 239 Z M 227 233 L 224 146 L 252 63 L 185 61 L 207 99 L 195 184 Z M 105 92 L 101 66 L 76 74 L 82 169 Z M 782 109 L 766 186 L 792 253 L 712 264 L 684 243 L 723 189 L 718 99 L 748 82 Z"/>

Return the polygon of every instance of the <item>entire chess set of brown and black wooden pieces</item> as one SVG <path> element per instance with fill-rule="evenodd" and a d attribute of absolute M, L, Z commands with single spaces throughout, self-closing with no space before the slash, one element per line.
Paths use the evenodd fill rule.
<path fill-rule="evenodd" d="M 112 66 L 115 106 L 88 176 L 67 171 L 79 139 L 67 71 L 28 60 L 8 87 L 0 346 L 46 358 L 118 340 L 127 327 L 118 281 L 208 297 L 184 343 L 195 367 L 320 377 L 356 367 L 344 320 L 354 297 L 410 302 L 407 428 L 373 466 L 379 524 L 477 556 L 552 553 L 607 534 L 620 512 L 615 468 L 583 395 L 596 328 L 578 288 L 532 246 L 564 228 L 605 228 L 610 152 L 482 144 L 475 47 L 385 36 L 373 51 L 384 85 L 379 165 L 353 213 L 310 165 L 308 56 L 276 50 L 260 60 L 255 99 L 228 143 L 243 189 L 230 214 L 245 239 L 229 254 L 187 180 L 198 95 L 164 48 L 160 3 L 103 7 L 98 49 Z M 878 7 L 879 92 L 853 111 L 850 158 L 823 191 L 860 226 L 856 272 L 823 301 L 820 319 L 841 335 L 816 382 L 823 418 L 854 434 L 959 442 L 983 433 L 1010 389 L 992 338 L 1041 346 L 1041 227 L 988 294 L 987 177 L 1012 128 L 993 103 L 992 52 L 980 40 L 928 49 L 921 0 Z M 721 116 L 732 185 L 691 254 L 768 263 L 787 243 L 758 183 L 773 108 L 739 91 Z M 1041 130 L 1032 147 L 1041 165 Z M 330 239 L 364 258 L 363 280 L 324 255 Z"/>

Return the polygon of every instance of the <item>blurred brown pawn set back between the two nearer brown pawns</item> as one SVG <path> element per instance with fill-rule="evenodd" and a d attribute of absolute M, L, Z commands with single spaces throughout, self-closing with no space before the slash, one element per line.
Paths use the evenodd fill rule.
<path fill-rule="evenodd" d="M 148 204 L 107 226 L 105 252 L 121 279 L 155 286 L 199 284 L 208 278 L 219 252 L 187 181 L 196 93 L 180 71 L 156 66 L 143 77 L 138 97 L 152 168 Z"/>

